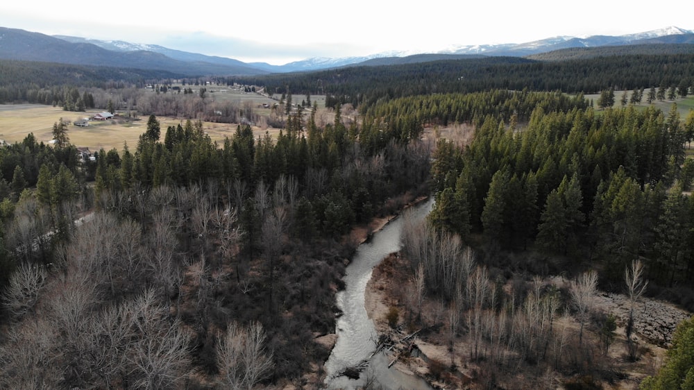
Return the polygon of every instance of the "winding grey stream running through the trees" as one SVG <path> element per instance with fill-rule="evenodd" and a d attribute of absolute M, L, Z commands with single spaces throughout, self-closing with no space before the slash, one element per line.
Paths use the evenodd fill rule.
<path fill-rule="evenodd" d="M 415 206 L 414 217 L 423 219 L 431 210 L 433 199 Z M 357 366 L 376 349 L 378 334 L 364 308 L 364 291 L 371 279 L 371 271 L 384 257 L 400 250 L 400 232 L 403 219 L 390 221 L 382 230 L 376 232 L 371 241 L 357 248 L 352 262 L 347 266 L 344 276 L 345 289 L 337 293 L 337 306 L 344 313 L 337 319 L 337 342 L 325 362 L 328 389 L 355 389 L 375 379 L 384 389 L 431 389 L 428 384 L 412 375 L 406 375 L 395 368 L 388 368 L 389 359 L 384 352 L 374 355 L 369 366 L 358 380 L 346 376 L 336 376 L 346 367 Z"/>

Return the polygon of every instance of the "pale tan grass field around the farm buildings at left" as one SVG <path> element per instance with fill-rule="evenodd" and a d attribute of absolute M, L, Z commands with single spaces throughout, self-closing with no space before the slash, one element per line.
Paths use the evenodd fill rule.
<path fill-rule="evenodd" d="M 9 144 L 21 142 L 26 135 L 33 133 L 39 142 L 47 143 L 52 137 L 53 124 L 62 117 L 66 121 L 75 121 L 84 117 L 92 117 L 101 110 L 88 112 L 67 112 L 60 107 L 51 105 L 22 104 L 0 105 L 0 139 Z M 162 139 L 168 126 L 176 126 L 185 120 L 167 117 L 157 117 L 162 129 Z M 91 151 L 99 151 L 103 148 L 108 151 L 115 148 L 123 149 L 127 142 L 133 150 L 137 146 L 139 135 L 144 133 L 147 126 L 147 117 L 131 119 L 116 117 L 110 121 L 90 121 L 90 126 L 78 127 L 69 125 L 68 136 L 70 143 L 75 146 L 87 146 Z M 223 142 L 224 137 L 232 137 L 236 131 L 236 124 L 218 124 L 203 122 L 203 131 L 210 135 L 212 140 Z M 260 128 L 253 129 L 256 137 L 264 135 Z M 278 133 L 278 129 L 270 129 L 271 135 Z"/>

